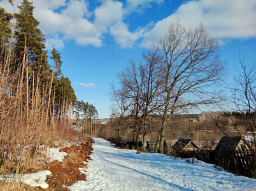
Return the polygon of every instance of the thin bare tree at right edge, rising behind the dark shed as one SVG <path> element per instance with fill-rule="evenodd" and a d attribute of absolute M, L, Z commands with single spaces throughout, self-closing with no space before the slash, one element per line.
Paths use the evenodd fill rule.
<path fill-rule="evenodd" d="M 241 70 L 233 76 L 234 83 L 227 86 L 231 92 L 228 106 L 220 106 L 222 112 L 210 118 L 225 136 L 246 134 L 256 144 L 256 65 L 245 64 L 245 56 L 239 62 Z"/>

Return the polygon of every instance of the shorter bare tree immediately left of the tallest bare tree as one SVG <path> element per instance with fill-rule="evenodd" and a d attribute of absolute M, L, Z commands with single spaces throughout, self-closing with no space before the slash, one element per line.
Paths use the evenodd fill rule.
<path fill-rule="evenodd" d="M 126 115 L 131 120 L 133 128 L 133 141 L 138 143 L 142 135 L 143 145 L 147 132 L 148 116 L 159 108 L 159 95 L 162 85 L 162 57 L 159 48 L 152 47 L 143 53 L 140 64 L 131 60 L 131 64 L 118 74 L 120 88 L 112 85 L 113 101 L 120 110 L 118 117 L 118 134 L 120 134 L 120 121 Z M 124 105 L 125 104 L 125 105 Z M 138 147 L 138 144 L 137 144 Z"/>

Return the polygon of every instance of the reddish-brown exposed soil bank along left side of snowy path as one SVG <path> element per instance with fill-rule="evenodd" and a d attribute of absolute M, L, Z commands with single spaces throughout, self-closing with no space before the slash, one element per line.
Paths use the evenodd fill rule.
<path fill-rule="evenodd" d="M 80 173 L 78 167 L 87 169 L 86 164 L 83 161 L 88 162 L 90 160 L 90 153 L 92 151 L 91 141 L 82 143 L 79 146 L 71 146 L 60 149 L 60 152 L 66 152 L 68 155 L 64 157 L 63 162 L 54 160 L 47 166 L 43 166 L 43 170 L 51 171 L 51 175 L 46 177 L 46 183 L 49 188 L 43 189 L 41 187 L 30 187 L 25 183 L 19 183 L 11 185 L 0 181 L 0 188 L 4 187 L 4 190 L 68 190 L 78 180 L 86 180 L 85 174 Z M 34 173 L 33 170 L 30 170 Z M 10 189 L 11 187 L 11 189 Z"/>

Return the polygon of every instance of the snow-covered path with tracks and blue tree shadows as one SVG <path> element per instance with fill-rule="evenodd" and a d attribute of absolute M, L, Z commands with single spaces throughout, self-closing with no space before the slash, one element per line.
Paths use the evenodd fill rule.
<path fill-rule="evenodd" d="M 204 162 L 190 164 L 159 153 L 120 150 L 94 139 L 87 181 L 70 190 L 256 190 L 256 180 L 217 171 Z"/>

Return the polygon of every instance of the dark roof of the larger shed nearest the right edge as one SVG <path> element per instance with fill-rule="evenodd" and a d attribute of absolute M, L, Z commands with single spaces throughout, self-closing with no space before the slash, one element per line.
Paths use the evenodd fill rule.
<path fill-rule="evenodd" d="M 241 148 L 241 145 L 248 147 L 245 139 L 242 137 L 223 137 L 220 139 L 220 142 L 218 142 L 218 145 L 216 146 L 215 150 L 239 150 Z"/>

